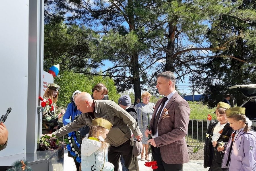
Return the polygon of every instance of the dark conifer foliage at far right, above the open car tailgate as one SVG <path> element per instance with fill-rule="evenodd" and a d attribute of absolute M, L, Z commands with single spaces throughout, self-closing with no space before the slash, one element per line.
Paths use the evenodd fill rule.
<path fill-rule="evenodd" d="M 202 70 L 194 75 L 197 90 L 204 89 L 204 103 L 213 108 L 222 101 L 226 93 L 235 97 L 237 105 L 241 105 L 244 97 L 241 93 L 231 91 L 230 86 L 256 83 L 256 39 L 255 13 L 253 1 L 236 1 L 228 5 L 226 13 L 212 19 L 212 27 L 207 31 L 207 39 L 211 46 L 224 45 L 226 48 L 216 50 L 216 56 L 198 65 Z"/>

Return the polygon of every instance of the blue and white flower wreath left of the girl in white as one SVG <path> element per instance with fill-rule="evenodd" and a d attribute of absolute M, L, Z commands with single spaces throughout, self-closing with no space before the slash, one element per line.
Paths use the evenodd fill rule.
<path fill-rule="evenodd" d="M 81 151 L 80 151 L 80 144 L 77 141 L 77 137 L 79 137 L 79 133 L 78 131 L 73 131 L 71 133 L 68 134 L 69 137 L 68 139 L 65 139 L 66 143 L 67 143 L 67 150 L 70 152 L 70 154 L 72 156 L 74 156 L 74 158 L 77 160 L 77 162 L 81 162 Z"/>

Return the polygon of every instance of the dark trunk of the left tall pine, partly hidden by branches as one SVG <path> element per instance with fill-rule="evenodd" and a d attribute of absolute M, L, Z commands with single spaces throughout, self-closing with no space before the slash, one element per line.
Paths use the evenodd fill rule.
<path fill-rule="evenodd" d="M 133 15 L 133 0 L 127 1 L 127 14 L 129 19 L 129 30 L 135 30 L 135 22 Z M 133 87 L 134 87 L 134 97 L 135 101 L 137 98 L 141 99 L 141 81 L 139 73 L 139 56 L 137 50 L 133 50 L 133 55 L 131 56 L 132 73 L 133 73 Z"/>

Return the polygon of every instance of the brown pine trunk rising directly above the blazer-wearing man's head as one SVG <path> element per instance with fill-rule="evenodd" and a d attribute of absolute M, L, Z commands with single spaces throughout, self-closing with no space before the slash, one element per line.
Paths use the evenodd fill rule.
<path fill-rule="evenodd" d="M 175 30 L 176 25 L 174 21 L 169 22 L 169 34 L 168 34 L 168 43 L 166 48 L 166 64 L 164 67 L 165 71 L 174 71 L 174 45 L 175 45 Z"/>

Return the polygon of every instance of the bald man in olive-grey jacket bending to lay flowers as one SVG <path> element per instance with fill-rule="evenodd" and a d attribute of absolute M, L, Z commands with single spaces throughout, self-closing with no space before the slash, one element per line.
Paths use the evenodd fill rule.
<path fill-rule="evenodd" d="M 93 100 L 91 95 L 86 92 L 80 93 L 75 99 L 75 103 L 82 114 L 77 120 L 52 134 L 61 137 L 84 125 L 91 126 L 92 119 L 96 117 L 105 118 L 113 124 L 106 141 L 110 143 L 108 160 L 115 166 L 114 171 L 118 170 L 121 154 L 129 171 L 139 171 L 138 159 L 132 154 L 134 144 L 132 133 L 139 141 L 142 139 L 142 133 L 137 126 L 136 120 L 115 102 Z"/>

